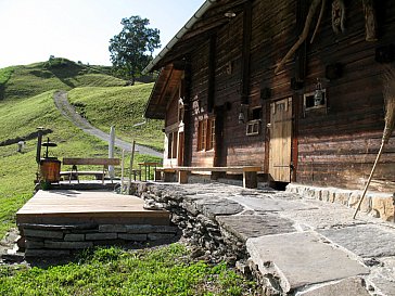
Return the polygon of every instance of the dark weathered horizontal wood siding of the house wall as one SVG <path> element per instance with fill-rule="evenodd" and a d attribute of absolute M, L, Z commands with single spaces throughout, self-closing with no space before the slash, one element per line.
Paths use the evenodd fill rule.
<path fill-rule="evenodd" d="M 306 3 L 308 9 L 309 1 Z M 367 42 L 361 1 L 346 1 L 346 30 L 340 35 L 332 30 L 331 3 L 327 3 L 318 35 L 314 43 L 306 47 L 304 86 L 292 90 L 291 78 L 296 75 L 293 60 L 279 74 L 273 72 L 301 31 L 296 21 L 297 1 L 253 1 L 249 104 L 250 108 L 262 106 L 263 116 L 259 134 L 252 137 L 245 134 L 245 125 L 238 123 L 242 91 L 243 14 L 216 31 L 214 112 L 220 110 L 216 116 L 221 117 L 224 125 L 218 164 L 260 165 L 267 172 L 270 139 L 266 125 L 269 123 L 270 102 L 292 98 L 292 162 L 295 167 L 292 180 L 313 185 L 360 189 L 369 176 L 384 127 L 382 65 L 374 61 L 374 51 L 377 47 L 395 40 L 395 2 L 381 1 L 378 9 L 379 40 Z M 315 22 L 309 37 L 314 26 Z M 212 151 L 197 152 L 196 139 L 199 119 L 207 110 L 209 54 L 209 40 L 190 54 L 191 105 L 199 101 L 203 108 L 201 114 L 189 113 L 192 120 L 188 132 L 192 137 L 186 147 L 191 151 L 188 163 L 193 166 L 212 164 L 215 157 Z M 343 73 L 337 79 L 322 82 L 328 98 L 327 111 L 304 112 L 303 94 L 314 91 L 316 79 L 324 78 L 326 66 L 335 62 L 342 63 Z M 271 90 L 270 98 L 265 100 L 260 98 L 264 88 Z M 392 191 L 394 184 L 393 137 L 378 166 L 373 186 Z"/>

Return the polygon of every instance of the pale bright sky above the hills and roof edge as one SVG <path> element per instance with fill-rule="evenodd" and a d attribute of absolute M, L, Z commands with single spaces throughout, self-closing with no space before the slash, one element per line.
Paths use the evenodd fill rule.
<path fill-rule="evenodd" d="M 0 0 L 0 68 L 50 55 L 111 65 L 110 39 L 120 20 L 140 15 L 161 30 L 162 47 L 204 0 Z M 157 50 L 155 53 L 158 53 Z"/>

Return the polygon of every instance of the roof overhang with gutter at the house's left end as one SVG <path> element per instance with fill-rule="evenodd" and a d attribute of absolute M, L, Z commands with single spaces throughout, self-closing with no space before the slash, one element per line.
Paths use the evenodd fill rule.
<path fill-rule="evenodd" d="M 219 28 L 240 14 L 244 3 L 253 0 L 206 0 L 187 24 L 144 68 L 143 74 L 160 70 L 145 108 L 145 117 L 165 119 L 166 108 L 174 98 L 188 64 L 190 53 L 205 43 Z"/>

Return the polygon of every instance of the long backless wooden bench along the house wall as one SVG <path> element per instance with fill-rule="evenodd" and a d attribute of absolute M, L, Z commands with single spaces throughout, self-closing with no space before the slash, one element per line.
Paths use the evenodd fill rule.
<path fill-rule="evenodd" d="M 262 171 L 259 166 L 233 166 L 233 167 L 171 167 L 156 168 L 155 180 L 160 179 L 160 173 L 164 172 L 164 181 L 169 181 L 169 175 L 178 172 L 178 182 L 188 183 L 188 175 L 191 172 L 209 171 L 212 172 L 233 172 L 243 175 L 244 188 L 257 188 L 257 172 Z"/>

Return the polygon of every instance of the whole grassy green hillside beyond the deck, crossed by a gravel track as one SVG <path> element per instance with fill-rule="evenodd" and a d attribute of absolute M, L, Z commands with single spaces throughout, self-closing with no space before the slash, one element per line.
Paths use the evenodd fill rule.
<path fill-rule="evenodd" d="M 22 154 L 16 152 L 15 141 L 7 141 L 28 138 L 37 127 L 44 127 L 52 130 L 46 137 L 58 143 L 50 151 L 52 156 L 107 155 L 105 142 L 84 133 L 61 115 L 53 103 L 55 91 L 68 91 L 78 112 L 84 110 L 88 120 L 103 131 L 115 125 L 117 136 L 125 140 L 162 147 L 161 121 L 133 127 L 143 120 L 152 83 L 123 87 L 125 81 L 109 75 L 105 67 L 60 61 L 63 64 L 49 68 L 46 62 L 0 69 L 0 237 L 14 226 L 17 209 L 31 196 L 37 171 L 37 140 L 30 137 Z M 116 153 L 120 157 L 120 151 Z M 151 159 L 136 157 L 137 162 Z"/>

